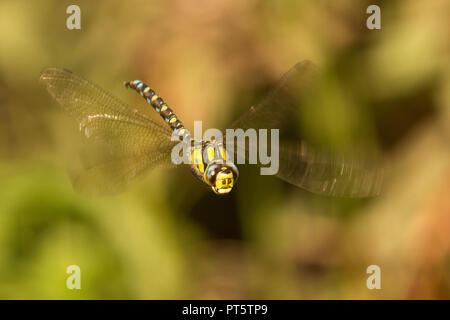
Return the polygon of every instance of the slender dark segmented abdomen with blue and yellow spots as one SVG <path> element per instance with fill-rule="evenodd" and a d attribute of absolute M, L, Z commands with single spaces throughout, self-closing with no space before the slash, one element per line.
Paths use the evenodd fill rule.
<path fill-rule="evenodd" d="M 181 121 L 173 110 L 166 104 L 166 102 L 158 96 L 158 94 L 150 88 L 147 84 L 140 80 L 133 80 L 125 82 L 125 87 L 136 90 L 144 99 L 155 109 L 157 113 L 164 119 L 169 127 L 180 138 L 190 137 L 189 132 L 184 128 Z"/>

